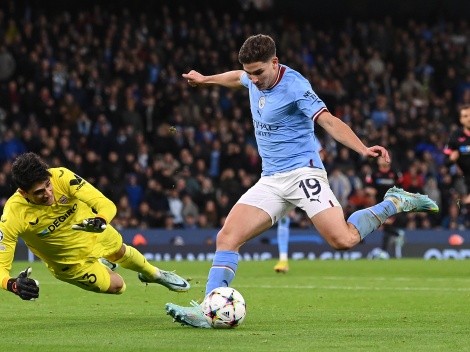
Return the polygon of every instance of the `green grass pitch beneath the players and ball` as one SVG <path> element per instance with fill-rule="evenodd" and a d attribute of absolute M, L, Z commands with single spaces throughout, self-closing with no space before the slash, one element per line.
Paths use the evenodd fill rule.
<path fill-rule="evenodd" d="M 15 262 L 12 273 L 28 264 Z M 0 351 L 470 351 L 468 261 L 273 261 L 239 264 L 232 286 L 247 303 L 232 330 L 182 327 L 166 302 L 201 299 L 209 262 L 163 262 L 191 278 L 189 293 L 145 286 L 119 268 L 121 296 L 82 291 L 32 264 L 41 296 L 0 292 Z"/>

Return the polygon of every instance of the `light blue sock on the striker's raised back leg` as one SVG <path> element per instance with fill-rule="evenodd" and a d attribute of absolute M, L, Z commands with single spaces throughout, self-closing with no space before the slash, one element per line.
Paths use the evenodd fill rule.
<path fill-rule="evenodd" d="M 397 214 L 397 208 L 390 200 L 384 200 L 372 207 L 355 211 L 348 218 L 364 239 L 372 231 L 378 229 L 390 216 Z"/>

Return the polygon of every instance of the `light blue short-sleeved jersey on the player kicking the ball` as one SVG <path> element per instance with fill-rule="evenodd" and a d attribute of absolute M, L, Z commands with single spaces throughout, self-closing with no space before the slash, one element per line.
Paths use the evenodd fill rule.
<path fill-rule="evenodd" d="M 255 136 L 263 161 L 262 176 L 306 166 L 324 169 L 314 120 L 327 108 L 307 79 L 280 65 L 271 89 L 260 91 L 246 73 L 240 81 L 249 89 Z"/>

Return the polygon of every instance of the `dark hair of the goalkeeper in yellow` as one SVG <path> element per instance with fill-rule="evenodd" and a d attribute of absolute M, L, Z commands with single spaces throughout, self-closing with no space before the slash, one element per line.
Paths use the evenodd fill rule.
<path fill-rule="evenodd" d="M 16 187 L 28 192 L 35 183 L 51 177 L 49 166 L 35 153 L 18 156 L 12 164 L 11 176 Z"/>

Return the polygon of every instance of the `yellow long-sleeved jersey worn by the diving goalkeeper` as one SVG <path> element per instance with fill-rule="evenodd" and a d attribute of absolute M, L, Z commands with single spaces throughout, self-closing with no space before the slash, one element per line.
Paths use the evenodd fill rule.
<path fill-rule="evenodd" d="M 72 171 L 50 168 L 55 202 L 37 205 L 16 191 L 6 202 L 0 219 L 0 283 L 5 288 L 18 237 L 44 262 L 74 264 L 87 257 L 96 234 L 72 229 L 84 219 L 100 216 L 108 223 L 116 206 L 98 189 Z M 116 231 L 111 226 L 105 229 Z"/>

